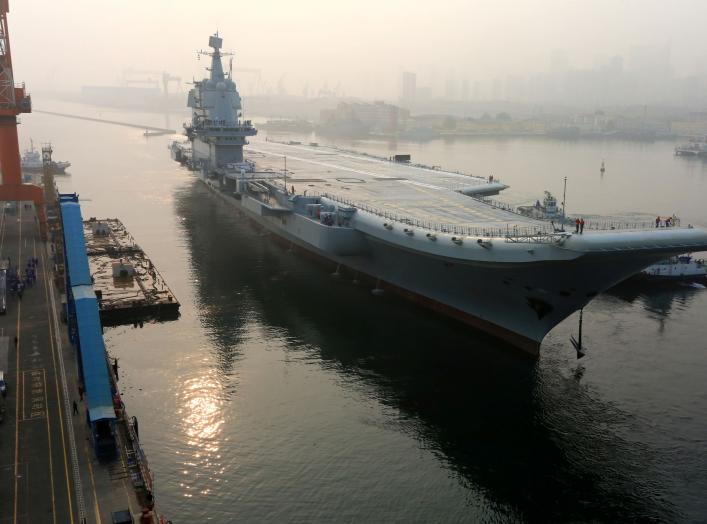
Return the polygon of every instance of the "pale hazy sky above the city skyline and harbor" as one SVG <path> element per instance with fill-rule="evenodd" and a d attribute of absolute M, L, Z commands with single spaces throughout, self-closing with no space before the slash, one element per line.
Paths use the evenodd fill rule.
<path fill-rule="evenodd" d="M 30 91 L 114 84 L 130 67 L 201 77 L 195 50 L 217 29 L 235 67 L 298 94 L 340 82 L 395 98 L 403 70 L 423 85 L 452 72 L 491 81 L 546 70 L 558 49 L 594 67 L 669 45 L 677 75 L 707 71 L 705 0 L 10 0 L 9 17 L 16 80 Z"/>

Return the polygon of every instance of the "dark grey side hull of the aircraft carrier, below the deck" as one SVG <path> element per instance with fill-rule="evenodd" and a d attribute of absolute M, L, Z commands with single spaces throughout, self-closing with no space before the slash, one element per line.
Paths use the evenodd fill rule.
<path fill-rule="evenodd" d="M 621 261 L 613 256 L 585 255 L 573 261 L 536 264 L 460 262 L 430 256 L 361 235 L 350 254 L 335 254 L 307 241 L 307 217 L 262 216 L 249 209 L 248 197 L 233 198 L 215 181 L 202 179 L 222 201 L 288 245 L 368 277 L 426 308 L 464 322 L 533 356 L 545 335 L 599 292 L 652 263 L 656 255 Z M 244 202 L 246 204 L 244 205 Z M 347 244 L 350 244 L 350 240 Z M 335 266 L 334 266 L 335 267 Z M 333 268 L 332 268 L 333 269 Z M 550 287 L 551 286 L 551 287 Z"/>

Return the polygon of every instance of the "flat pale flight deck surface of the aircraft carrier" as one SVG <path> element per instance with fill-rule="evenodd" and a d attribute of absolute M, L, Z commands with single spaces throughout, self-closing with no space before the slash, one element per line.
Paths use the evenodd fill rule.
<path fill-rule="evenodd" d="M 533 228 L 551 232 L 552 226 L 503 204 L 490 204 L 461 191 L 478 189 L 492 194 L 504 189 L 498 180 L 428 166 L 395 162 L 332 147 L 252 141 L 246 158 L 255 163 L 258 175 L 284 181 L 302 194 L 327 194 L 346 199 L 357 207 L 388 211 L 411 220 L 432 224 L 503 231 Z M 485 190 L 485 193 L 484 193 Z"/>

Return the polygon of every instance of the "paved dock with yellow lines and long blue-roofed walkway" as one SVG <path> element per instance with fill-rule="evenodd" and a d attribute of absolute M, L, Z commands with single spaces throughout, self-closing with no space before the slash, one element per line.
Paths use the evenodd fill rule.
<path fill-rule="evenodd" d="M 0 363 L 7 385 L 0 522 L 116 522 L 122 514 L 156 524 L 152 474 L 103 342 L 78 206 L 78 198 L 61 203 L 50 241 L 33 204 L 0 212 L 9 275 L 0 315 L 7 354 Z M 57 272 L 65 277 L 66 310 Z"/>

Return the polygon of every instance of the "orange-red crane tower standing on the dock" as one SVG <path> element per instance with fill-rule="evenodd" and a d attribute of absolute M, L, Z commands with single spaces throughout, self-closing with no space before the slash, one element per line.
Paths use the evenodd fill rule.
<path fill-rule="evenodd" d="M 20 144 L 17 140 L 17 115 L 32 112 L 32 99 L 24 84 L 15 85 L 10 54 L 10 35 L 7 30 L 9 0 L 0 0 L 0 201 L 34 202 L 37 218 L 46 234 L 44 192 L 34 184 L 22 183 Z"/>

